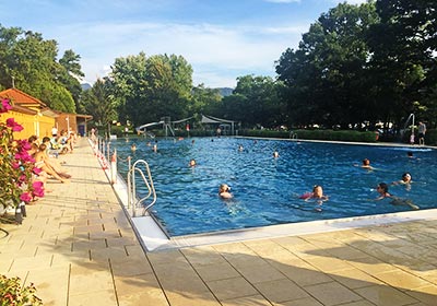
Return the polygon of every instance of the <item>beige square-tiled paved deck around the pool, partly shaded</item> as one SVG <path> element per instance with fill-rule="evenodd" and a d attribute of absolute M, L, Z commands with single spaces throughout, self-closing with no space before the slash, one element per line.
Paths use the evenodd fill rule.
<path fill-rule="evenodd" d="M 0 273 L 44 305 L 437 305 L 437 217 L 145 251 L 88 145 L 1 224 Z"/>

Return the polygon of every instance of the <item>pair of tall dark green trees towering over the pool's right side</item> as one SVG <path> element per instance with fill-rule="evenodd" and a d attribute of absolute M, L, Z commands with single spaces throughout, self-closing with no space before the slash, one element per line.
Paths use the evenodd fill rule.
<path fill-rule="evenodd" d="M 400 123 L 437 111 L 437 2 L 339 4 L 277 61 L 290 121 Z M 435 125 L 435 121 L 433 121 Z"/>

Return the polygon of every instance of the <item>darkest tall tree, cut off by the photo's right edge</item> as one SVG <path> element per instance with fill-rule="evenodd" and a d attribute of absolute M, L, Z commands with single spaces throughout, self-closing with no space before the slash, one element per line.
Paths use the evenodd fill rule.
<path fill-rule="evenodd" d="M 432 0 L 377 1 L 380 23 L 371 27 L 369 46 L 379 104 L 387 119 L 399 121 L 416 113 L 433 120 L 437 84 L 437 2 Z"/>

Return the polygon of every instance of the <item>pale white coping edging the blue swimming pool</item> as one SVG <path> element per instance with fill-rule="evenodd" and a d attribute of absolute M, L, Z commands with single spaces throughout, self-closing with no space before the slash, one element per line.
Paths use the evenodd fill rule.
<path fill-rule="evenodd" d="M 257 138 L 259 139 L 259 138 Z M 276 140 L 276 139 L 272 139 Z M 304 141 L 304 140 L 290 140 L 290 141 Z M 311 141 L 311 142 L 327 142 L 327 141 Z M 333 141 L 331 141 L 333 142 Z M 368 144 L 368 143 L 350 143 L 350 142 L 333 142 L 346 144 L 367 144 L 367 145 L 381 145 L 381 146 L 403 146 L 393 144 Z M 412 146 L 414 149 L 436 149 L 436 146 L 421 145 Z M 110 169 L 104 169 L 107 178 L 111 181 Z M 122 204 L 126 215 L 128 216 L 135 235 L 138 236 L 142 247 L 146 251 L 161 251 L 169 249 L 179 249 L 188 247 L 198 247 L 215 244 L 236 243 L 243 240 L 267 239 L 283 236 L 297 236 L 305 234 L 327 233 L 334 231 L 345 231 L 352 228 L 361 228 L 367 226 L 383 226 L 391 223 L 411 222 L 421 220 L 437 220 L 437 209 L 427 209 L 418 211 L 404 211 L 386 214 L 342 217 L 332 220 L 318 220 L 298 223 L 276 224 L 250 228 L 229 229 L 212 233 L 202 233 L 185 236 L 169 237 L 157 224 L 155 217 L 150 213 L 144 216 L 132 217 L 129 213 L 128 207 L 128 189 L 123 178 L 117 174 L 117 179 L 111 184 L 113 189 Z"/>

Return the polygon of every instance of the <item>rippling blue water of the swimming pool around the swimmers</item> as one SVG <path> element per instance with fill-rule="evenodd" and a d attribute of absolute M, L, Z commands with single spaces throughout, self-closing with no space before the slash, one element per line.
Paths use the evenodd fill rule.
<path fill-rule="evenodd" d="M 437 208 L 436 150 L 190 138 L 158 140 L 155 153 L 146 141 L 119 139 L 111 146 L 120 158 L 147 161 L 157 193 L 153 212 L 172 236 L 409 211 L 409 207 L 391 205 L 389 199 L 373 201 L 378 183 L 399 180 L 404 172 L 412 174 L 411 190 L 390 186 L 390 192 L 413 200 L 421 209 Z M 133 142 L 137 151 L 132 153 Z M 274 151 L 279 158 L 272 157 Z M 415 158 L 409 158 L 408 151 Z M 365 157 L 377 169 L 354 166 Z M 194 168 L 188 166 L 191 158 L 198 162 Z M 126 163 L 119 163 L 123 177 L 126 170 Z M 222 183 L 232 187 L 234 199 L 218 198 Z M 314 185 L 322 185 L 329 196 L 321 211 L 317 202 L 298 198 Z"/>

